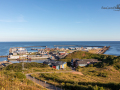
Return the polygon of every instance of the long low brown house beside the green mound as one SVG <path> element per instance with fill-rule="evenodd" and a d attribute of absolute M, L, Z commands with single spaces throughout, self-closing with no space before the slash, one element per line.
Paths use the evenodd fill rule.
<path fill-rule="evenodd" d="M 101 62 L 98 61 L 98 59 L 72 59 L 71 60 L 71 65 L 73 67 L 78 67 L 78 66 L 87 66 L 89 64 L 94 64 L 97 62 Z"/>

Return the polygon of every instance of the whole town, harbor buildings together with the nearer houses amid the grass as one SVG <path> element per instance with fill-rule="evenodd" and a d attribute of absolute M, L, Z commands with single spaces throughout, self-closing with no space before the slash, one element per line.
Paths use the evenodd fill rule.
<path fill-rule="evenodd" d="M 32 47 L 32 46 L 30 46 Z M 36 46 L 38 47 L 38 46 Z M 67 66 L 67 62 L 62 62 L 59 61 L 60 59 L 65 58 L 67 55 L 70 53 L 76 52 L 76 51 L 84 51 L 84 52 L 89 52 L 89 53 L 95 53 L 95 54 L 102 54 L 106 50 L 109 49 L 109 47 L 69 47 L 69 48 L 47 48 L 44 46 L 44 49 L 39 49 L 39 48 L 31 48 L 31 52 L 27 51 L 27 47 L 13 47 L 9 49 L 9 55 L 8 61 L 1 62 L 1 67 L 2 66 L 8 66 L 9 64 L 12 64 L 10 61 L 11 60 L 17 60 L 19 62 L 23 61 L 31 61 L 31 60 L 46 60 L 43 62 L 43 64 L 47 64 L 50 67 L 53 67 L 55 69 L 65 69 Z M 34 52 L 32 52 L 34 50 Z M 73 58 L 71 60 L 71 65 L 73 67 L 77 66 L 87 66 L 91 63 L 97 63 L 100 62 L 96 59 L 76 59 Z"/>

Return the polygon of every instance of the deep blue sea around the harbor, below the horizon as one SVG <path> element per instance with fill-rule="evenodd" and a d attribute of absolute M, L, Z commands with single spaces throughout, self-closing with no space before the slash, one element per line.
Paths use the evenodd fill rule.
<path fill-rule="evenodd" d="M 61 45 L 61 46 L 55 46 Z M 65 45 L 65 46 L 64 46 Z M 71 45 L 71 46 L 67 46 Z M 0 56 L 9 55 L 11 47 L 27 47 L 27 46 L 47 46 L 48 48 L 68 48 L 78 46 L 110 46 L 104 54 L 120 56 L 120 41 L 41 41 L 41 42 L 0 42 Z M 77 46 L 77 47 L 78 47 Z M 44 49 L 45 47 L 29 47 L 26 48 L 31 52 L 31 48 Z M 32 50 L 36 52 L 36 50 Z M 7 58 L 0 58 L 0 61 L 7 60 Z M 42 63 L 44 60 L 34 60 L 32 62 Z M 13 61 L 13 63 L 18 63 Z"/>

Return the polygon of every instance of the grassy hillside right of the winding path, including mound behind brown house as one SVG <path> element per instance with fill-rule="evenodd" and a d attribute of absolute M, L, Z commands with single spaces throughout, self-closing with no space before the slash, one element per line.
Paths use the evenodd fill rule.
<path fill-rule="evenodd" d="M 112 55 L 74 52 L 61 61 L 71 62 L 71 59 L 98 59 L 101 63 L 78 67 L 76 73 L 42 73 L 32 76 L 65 90 L 119 90 L 120 89 L 120 57 Z"/>

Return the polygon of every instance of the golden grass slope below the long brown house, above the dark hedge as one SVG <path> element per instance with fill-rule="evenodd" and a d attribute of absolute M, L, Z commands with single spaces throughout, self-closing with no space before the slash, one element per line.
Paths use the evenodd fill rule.
<path fill-rule="evenodd" d="M 77 71 L 82 72 L 85 76 L 90 77 L 97 82 L 120 83 L 120 73 L 112 66 L 106 66 L 104 68 L 82 67 L 77 69 Z"/>

